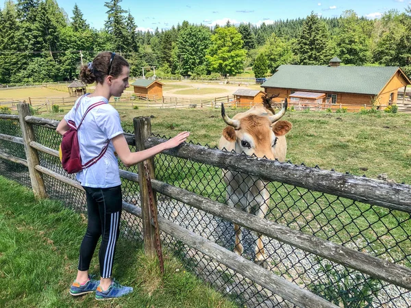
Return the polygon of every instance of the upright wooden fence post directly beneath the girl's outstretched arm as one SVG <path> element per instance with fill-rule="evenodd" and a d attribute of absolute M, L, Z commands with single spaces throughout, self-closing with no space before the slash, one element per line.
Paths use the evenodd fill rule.
<path fill-rule="evenodd" d="M 136 140 L 137 151 L 145 150 L 144 141 L 151 135 L 151 119 L 149 117 L 134 118 L 134 138 Z M 147 159 L 149 166 L 149 175 L 154 179 L 154 164 L 153 158 Z M 145 175 L 144 162 L 138 164 L 138 183 L 140 185 L 140 201 L 142 211 L 142 231 L 144 238 L 144 251 L 149 257 L 155 256 L 155 229 L 151 224 L 151 211 L 149 191 L 147 188 L 147 178 Z M 153 192 L 154 210 L 157 211 L 157 198 Z"/>

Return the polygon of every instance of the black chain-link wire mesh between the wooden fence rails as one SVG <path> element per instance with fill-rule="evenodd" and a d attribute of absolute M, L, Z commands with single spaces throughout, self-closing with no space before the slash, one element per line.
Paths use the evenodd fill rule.
<path fill-rule="evenodd" d="M 21 137 L 18 121 L 0 119 L 0 133 Z M 61 137 L 53 129 L 35 126 L 35 134 L 37 142 L 51 149 L 58 149 Z M 136 151 L 134 146 L 130 148 Z M 13 142 L 0 140 L 0 153 L 25 159 L 23 145 Z M 62 170 L 57 157 L 39 153 L 39 158 L 41 166 L 71 179 L 75 178 Z M 284 183 L 267 183 L 249 175 L 230 175 L 223 173 L 221 168 L 164 154 L 155 156 L 154 166 L 155 178 L 160 181 L 220 203 L 236 203 L 237 196 L 242 195 L 242 198 L 247 199 L 240 200 L 245 211 L 411 268 L 411 217 L 408 213 Z M 126 169 L 122 164 L 120 167 Z M 138 173 L 136 166 L 127 170 Z M 25 166 L 0 159 L 0 174 L 27 187 L 31 186 Z M 44 179 L 47 194 L 51 198 L 60 200 L 77 211 L 86 211 L 86 199 L 82 191 L 47 175 Z M 252 194 L 249 194 L 247 185 L 244 185 L 247 182 L 258 183 L 253 187 Z M 122 179 L 122 190 L 125 202 L 140 205 L 138 183 Z M 266 208 L 260 205 L 266 205 Z M 230 251 L 237 248 L 236 251 L 242 257 L 251 261 L 255 261 L 256 255 L 262 255 L 262 266 L 340 307 L 411 307 L 410 291 L 373 279 L 357 270 L 340 266 L 289 244 L 266 236 L 259 237 L 245 228 L 241 228 L 242 236 L 236 243 L 232 222 L 190 207 L 169 196 L 158 194 L 158 211 L 160 216 Z M 166 246 L 168 251 L 173 252 L 184 261 L 189 270 L 235 300 L 238 305 L 295 307 L 281 296 L 272 294 L 173 236 L 164 232 L 161 235 L 163 246 Z M 123 211 L 121 236 L 142 240 L 140 218 Z"/>

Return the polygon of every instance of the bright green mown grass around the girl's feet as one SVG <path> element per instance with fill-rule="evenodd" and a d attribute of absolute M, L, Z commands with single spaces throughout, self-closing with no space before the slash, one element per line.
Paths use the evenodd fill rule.
<path fill-rule="evenodd" d="M 0 307 L 100 307 L 69 295 L 86 218 L 0 177 Z M 90 272 L 98 274 L 97 253 Z M 114 273 L 134 293 L 110 307 L 235 307 L 164 255 L 165 274 L 140 244 L 120 238 Z M 105 305 L 107 307 L 107 305 Z"/>

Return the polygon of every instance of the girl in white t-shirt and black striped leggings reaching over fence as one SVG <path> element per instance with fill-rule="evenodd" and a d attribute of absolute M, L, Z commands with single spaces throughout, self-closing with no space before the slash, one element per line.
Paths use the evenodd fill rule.
<path fill-rule="evenodd" d="M 129 87 L 128 62 L 116 53 L 99 53 L 88 66 L 82 67 L 80 79 L 85 84 L 96 82 L 95 92 L 80 97 L 72 110 L 61 120 L 56 131 L 64 135 L 69 130 L 69 120 L 79 125 L 90 105 L 103 102 L 86 114 L 77 131 L 82 161 L 88 162 L 99 156 L 101 159 L 78 172 L 76 176 L 86 190 L 88 225 L 80 246 L 77 277 L 71 285 L 70 294 L 77 296 L 96 292 L 96 298 L 103 300 L 117 298 L 133 291 L 132 287 L 120 285 L 111 278 L 122 204 L 119 164 L 114 151 L 125 166 L 132 166 L 161 151 L 178 146 L 186 141 L 190 133 L 184 131 L 158 146 L 132 153 L 123 135 L 119 112 L 108 104 L 112 95 L 120 97 Z M 103 151 L 105 147 L 107 149 Z M 101 279 L 98 282 L 90 277 L 88 268 L 100 236 Z"/>

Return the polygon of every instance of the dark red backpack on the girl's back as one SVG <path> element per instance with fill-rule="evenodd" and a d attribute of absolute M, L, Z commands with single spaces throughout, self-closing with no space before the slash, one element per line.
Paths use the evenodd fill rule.
<path fill-rule="evenodd" d="M 75 107 L 76 112 L 82 98 L 83 97 L 79 99 L 77 107 Z M 97 155 L 97 157 L 90 159 L 88 162 L 86 162 L 86 164 L 82 164 L 82 157 L 80 157 L 79 140 L 77 138 L 77 131 L 80 128 L 80 126 L 82 126 L 83 120 L 88 114 L 88 112 L 92 110 L 92 108 L 103 104 L 105 104 L 105 102 L 99 101 L 97 103 L 90 105 L 84 113 L 84 116 L 80 121 L 78 127 L 75 126 L 75 122 L 72 120 L 69 120 L 69 122 L 67 123 L 70 128 L 69 131 L 66 131 L 66 133 L 64 133 L 62 143 L 60 144 L 60 159 L 62 161 L 63 169 L 66 170 L 67 173 L 79 172 L 85 168 L 94 165 L 99 161 L 101 157 L 103 157 L 105 151 L 107 151 L 108 144 L 110 143 L 110 141 L 107 143 L 107 145 L 104 146 L 103 150 L 101 150 L 100 154 Z"/>

